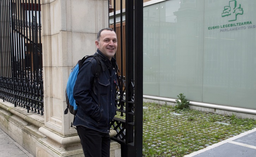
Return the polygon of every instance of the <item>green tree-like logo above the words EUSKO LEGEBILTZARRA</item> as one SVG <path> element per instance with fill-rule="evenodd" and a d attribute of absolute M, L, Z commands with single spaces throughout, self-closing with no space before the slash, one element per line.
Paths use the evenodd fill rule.
<path fill-rule="evenodd" d="M 228 21 L 236 21 L 237 15 L 243 15 L 243 8 L 241 8 L 241 5 L 237 6 L 237 1 L 229 1 L 229 6 L 224 7 L 224 11 L 222 13 L 222 17 L 228 17 Z"/>

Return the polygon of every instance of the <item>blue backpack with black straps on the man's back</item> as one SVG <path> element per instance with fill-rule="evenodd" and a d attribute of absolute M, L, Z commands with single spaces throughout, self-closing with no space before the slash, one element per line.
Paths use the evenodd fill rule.
<path fill-rule="evenodd" d="M 77 74 L 79 72 L 79 69 L 82 66 L 82 64 L 84 63 L 84 61 L 89 57 L 94 57 L 97 61 L 94 83 L 93 83 L 93 92 L 96 94 L 95 84 L 96 84 L 96 80 L 99 78 L 99 74 L 101 72 L 101 67 L 103 68 L 103 63 L 101 63 L 102 61 L 101 61 L 101 59 L 99 58 L 98 55 L 89 55 L 89 56 L 86 55 L 83 59 L 78 61 L 77 65 L 75 65 L 72 68 L 71 73 L 68 77 L 67 87 L 66 87 L 66 92 L 65 92 L 66 103 L 67 103 L 67 109 L 64 111 L 65 115 L 68 113 L 68 110 L 73 115 L 76 115 L 76 113 L 77 113 L 77 109 L 78 109 L 79 104 L 76 103 L 76 101 L 73 97 L 73 89 L 74 89 L 74 86 L 75 86 L 75 80 L 77 80 Z M 104 70 L 104 68 L 103 68 L 103 70 Z M 71 127 L 72 127 L 72 123 L 71 123 Z"/>

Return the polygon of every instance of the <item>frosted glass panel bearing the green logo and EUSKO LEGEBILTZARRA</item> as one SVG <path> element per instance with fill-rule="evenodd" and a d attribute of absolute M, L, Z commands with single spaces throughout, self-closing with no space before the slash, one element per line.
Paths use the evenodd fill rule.
<path fill-rule="evenodd" d="M 256 109 L 255 7 L 206 0 L 203 102 Z"/>

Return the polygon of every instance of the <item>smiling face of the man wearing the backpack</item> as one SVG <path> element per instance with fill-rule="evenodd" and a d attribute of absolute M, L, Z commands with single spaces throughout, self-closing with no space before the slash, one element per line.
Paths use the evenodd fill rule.
<path fill-rule="evenodd" d="M 97 48 L 110 60 L 117 50 L 117 37 L 114 31 L 104 30 L 100 33 L 99 41 L 95 41 Z"/>

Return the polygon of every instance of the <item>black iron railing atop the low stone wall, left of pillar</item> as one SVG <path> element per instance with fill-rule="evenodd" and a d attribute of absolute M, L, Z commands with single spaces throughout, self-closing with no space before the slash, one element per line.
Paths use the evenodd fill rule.
<path fill-rule="evenodd" d="M 0 98 L 43 115 L 40 0 L 0 4 Z"/>

